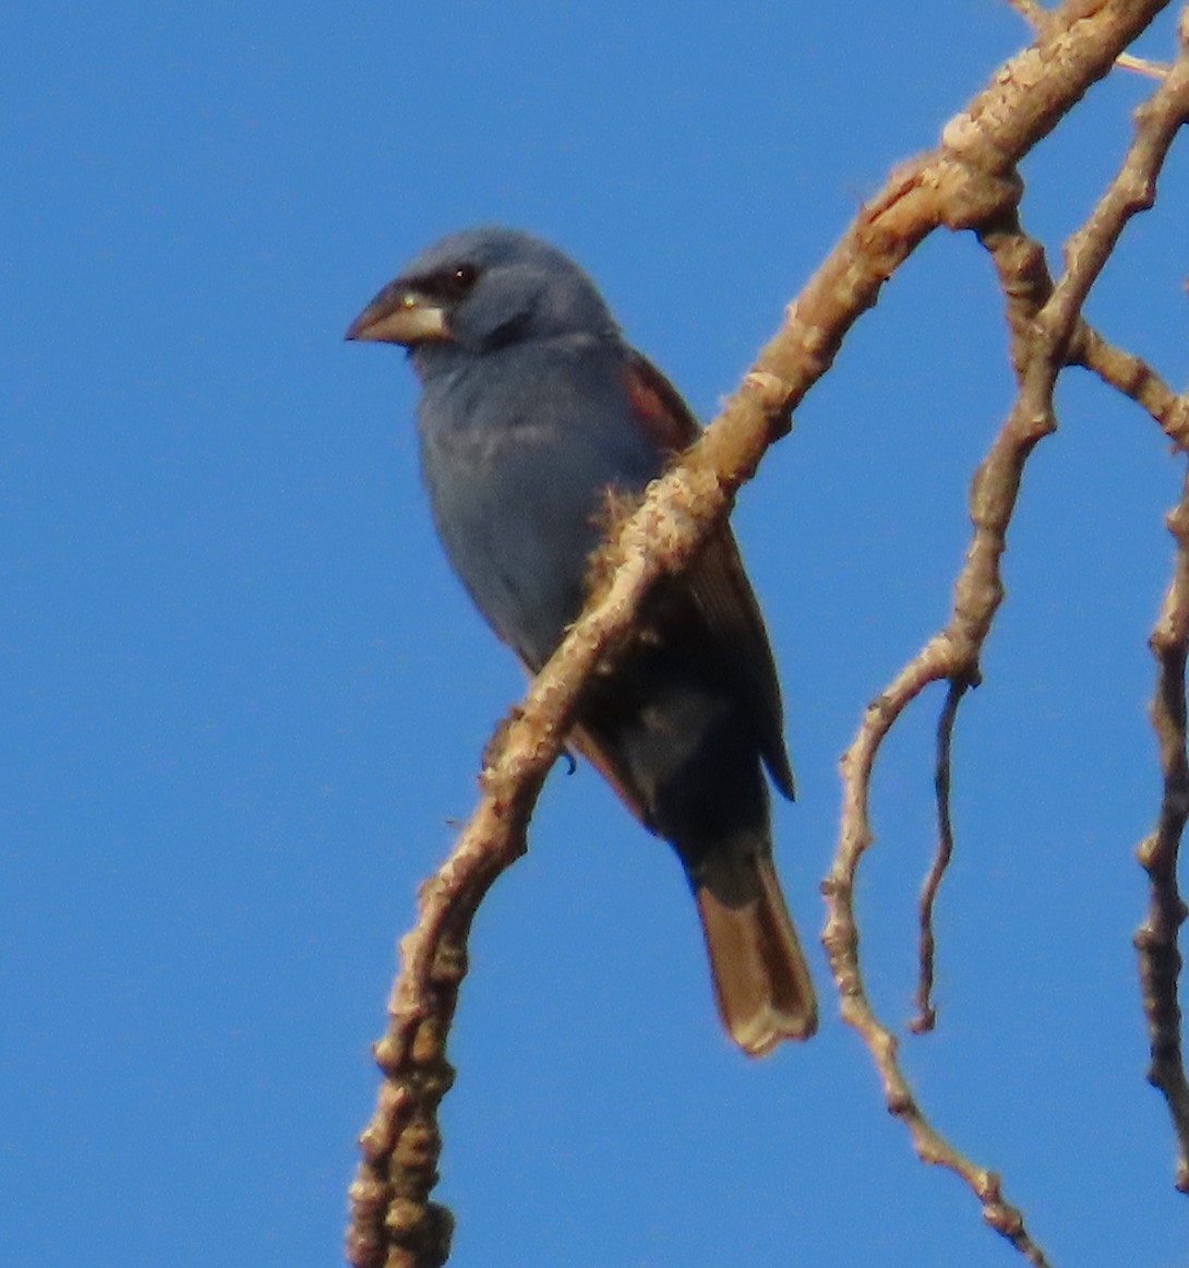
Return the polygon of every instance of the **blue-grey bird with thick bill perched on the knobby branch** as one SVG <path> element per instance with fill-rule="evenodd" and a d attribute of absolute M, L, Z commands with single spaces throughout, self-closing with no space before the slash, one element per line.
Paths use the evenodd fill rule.
<path fill-rule="evenodd" d="M 537 672 L 582 611 L 608 507 L 639 500 L 698 422 L 581 266 L 520 230 L 436 241 L 346 337 L 407 350 L 437 535 L 496 635 Z M 676 851 L 729 1037 L 759 1056 L 813 1035 L 764 779 L 794 798 L 781 692 L 728 525 L 649 592 L 621 659 L 581 694 L 568 743 Z"/>

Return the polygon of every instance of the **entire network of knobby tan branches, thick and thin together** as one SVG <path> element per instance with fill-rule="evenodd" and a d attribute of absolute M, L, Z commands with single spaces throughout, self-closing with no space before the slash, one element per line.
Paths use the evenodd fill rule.
<path fill-rule="evenodd" d="M 529 817 L 562 752 L 586 677 L 598 666 L 614 664 L 649 587 L 662 574 L 681 569 L 730 512 L 739 486 L 753 474 L 764 450 L 787 432 L 792 410 L 829 369 L 849 328 L 876 303 L 884 283 L 915 247 L 942 227 L 975 231 L 995 262 L 1013 336 L 1018 394 L 974 479 L 974 535 L 954 585 L 949 621 L 868 705 L 844 754 L 839 843 L 823 883 L 828 905 L 823 941 L 842 1016 L 864 1040 L 887 1107 L 908 1127 L 918 1154 L 957 1173 L 981 1202 L 986 1222 L 1028 1262 L 1046 1263 L 1022 1213 L 1003 1197 L 999 1177 L 946 1141 L 914 1097 L 897 1060 L 896 1038 L 876 1017 L 863 989 L 854 880 L 873 841 L 870 784 L 880 746 L 909 702 L 941 680 L 951 685 L 937 772 L 942 851 L 948 856 L 953 847 L 947 810 L 949 737 L 962 694 L 979 680 L 980 652 L 1003 600 L 999 560 L 1028 455 L 1056 426 L 1052 391 L 1058 374 L 1069 365 L 1085 366 L 1133 399 L 1175 443 L 1184 448 L 1189 437 L 1185 397 L 1167 388 L 1140 358 L 1107 342 L 1080 316 L 1127 221 L 1151 203 L 1167 146 L 1189 114 L 1186 20 L 1181 20 L 1181 56 L 1138 112 L 1134 142 L 1119 175 L 1070 240 L 1056 280 L 1043 250 L 1020 224 L 1022 186 L 1015 170 L 1166 3 L 1069 0 L 1052 10 L 1031 0 L 1018 3 L 1036 27 L 1034 41 L 996 68 L 986 87 L 946 126 L 937 148 L 896 167 L 859 209 L 790 303 L 780 330 L 721 413 L 649 488 L 602 553 L 582 619 L 488 746 L 479 803 L 446 862 L 422 886 L 416 926 L 402 940 L 388 1027 L 375 1046 L 383 1083 L 360 1136 L 363 1156 L 350 1191 L 347 1254 L 356 1268 L 436 1268 L 449 1255 L 451 1217 L 431 1201 L 431 1193 L 441 1149 L 437 1106 L 454 1077 L 446 1041 L 466 971 L 468 933 L 492 881 L 525 850 Z M 1184 1167 L 1189 1090 L 1176 1008 L 1176 929 L 1184 905 L 1175 889 L 1176 843 L 1189 810 L 1183 691 L 1189 511 L 1184 505 L 1170 522 L 1181 543 L 1179 571 L 1152 637 L 1160 662 L 1156 725 L 1165 801 L 1160 825 L 1142 851 L 1154 896 L 1137 943 L 1152 1035 L 1151 1077 L 1173 1106 Z M 922 909 L 922 1026 L 932 1021 L 932 907 L 943 871 L 939 856 Z"/>

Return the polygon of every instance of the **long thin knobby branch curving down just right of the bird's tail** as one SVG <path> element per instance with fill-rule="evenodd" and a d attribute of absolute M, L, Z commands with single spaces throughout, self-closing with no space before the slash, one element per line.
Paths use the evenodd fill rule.
<path fill-rule="evenodd" d="M 1065 6 L 1064 6 L 1065 8 Z M 1060 13 L 1047 15 L 1050 34 Z M 1086 22 L 1093 18 L 1086 18 Z M 1046 37 L 1042 36 L 1041 42 Z M 1115 48 L 1114 52 L 1119 49 Z M 843 808 L 838 851 L 823 889 L 829 919 L 823 941 L 842 994 L 843 1017 L 866 1040 L 884 1079 L 889 1108 L 913 1135 L 920 1156 L 961 1175 L 984 1202 L 984 1219 L 1006 1236 L 1033 1264 L 1044 1255 L 1028 1236 L 1019 1212 L 1003 1201 L 994 1173 L 975 1167 L 954 1150 L 924 1118 L 896 1058 L 896 1041 L 876 1017 L 862 984 L 858 929 L 854 918 L 854 876 L 859 858 L 873 841 L 870 818 L 871 773 L 880 746 L 909 702 L 939 678 L 951 682 L 979 672 L 979 657 L 991 621 L 1003 600 L 1000 558 L 1006 545 L 1024 464 L 1036 444 L 1056 426 L 1052 392 L 1079 328 L 1080 311 L 1127 221 L 1150 205 L 1156 172 L 1164 161 L 1181 117 L 1180 62 L 1137 112 L 1136 137 L 1119 174 L 1112 181 L 1085 226 L 1067 243 L 1066 269 L 1027 328 L 1010 312 L 1013 295 L 1027 294 L 1038 283 L 1037 260 L 1027 250 L 995 251 L 996 268 L 1006 278 L 1013 326 L 1013 364 L 1019 379 L 1015 402 L 971 487 L 970 510 L 975 526 L 966 559 L 954 585 L 953 609 L 944 630 L 934 635 L 877 700 L 868 706 L 858 733 L 842 761 Z M 951 123 L 946 137 L 962 136 Z M 996 249 L 1019 247 L 1012 241 L 1014 209 L 984 221 L 985 236 Z M 1023 243 L 1027 246 L 1027 243 Z M 1041 261 L 1043 262 L 1043 261 Z"/>

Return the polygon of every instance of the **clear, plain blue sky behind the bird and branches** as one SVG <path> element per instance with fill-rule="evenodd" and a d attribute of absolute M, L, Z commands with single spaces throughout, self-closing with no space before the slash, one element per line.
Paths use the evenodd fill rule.
<path fill-rule="evenodd" d="M 889 166 L 1025 33 L 995 0 L 114 3 L 5 25 L 0 1259 L 336 1263 L 393 943 L 521 689 L 432 538 L 412 378 L 342 331 L 428 240 L 524 226 L 706 417 Z M 1167 56 L 1169 28 L 1143 51 Z M 1146 91 L 1117 72 L 1028 161 L 1053 261 Z M 1089 306 L 1174 384 L 1186 198 L 1174 151 Z M 935 237 L 740 500 L 821 1033 L 742 1059 L 676 864 L 591 771 L 556 772 L 475 928 L 453 1262 L 1013 1262 L 886 1115 L 814 936 L 837 758 L 944 620 L 1004 351 L 987 260 Z M 941 1028 L 904 1054 L 1056 1262 L 1173 1265 L 1185 1200 L 1129 938 L 1181 464 L 1086 375 L 1058 403 L 960 723 Z M 861 915 L 890 1019 L 939 704 L 876 780 Z"/>

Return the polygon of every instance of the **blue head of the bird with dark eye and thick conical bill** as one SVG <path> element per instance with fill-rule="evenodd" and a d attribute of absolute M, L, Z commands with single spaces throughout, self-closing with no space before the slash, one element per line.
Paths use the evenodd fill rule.
<path fill-rule="evenodd" d="M 477 228 L 451 233 L 409 261 L 346 337 L 484 353 L 575 333 L 617 333 L 582 269 L 527 233 Z"/>

